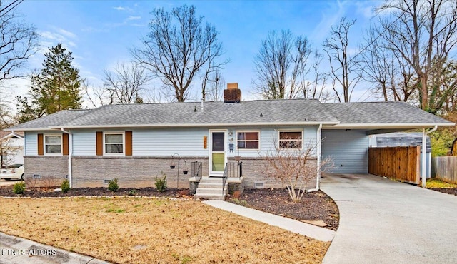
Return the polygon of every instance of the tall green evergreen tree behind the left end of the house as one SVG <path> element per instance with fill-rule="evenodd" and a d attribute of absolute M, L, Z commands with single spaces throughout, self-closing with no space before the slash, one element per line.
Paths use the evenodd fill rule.
<path fill-rule="evenodd" d="M 57 44 L 44 56 L 44 68 L 31 77 L 30 99 L 17 98 L 20 123 L 61 110 L 81 108 L 82 80 L 79 70 L 71 66 L 71 52 Z"/>

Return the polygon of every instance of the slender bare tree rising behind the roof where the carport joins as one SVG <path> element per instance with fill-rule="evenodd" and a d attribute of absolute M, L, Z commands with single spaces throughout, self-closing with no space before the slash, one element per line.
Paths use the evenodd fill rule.
<path fill-rule="evenodd" d="M 331 37 L 323 43 L 331 72 L 333 91 L 340 102 L 351 101 L 351 96 L 357 83 L 361 81 L 361 74 L 356 70 L 356 61 L 348 54 L 349 39 L 348 33 L 355 20 L 348 21 L 346 17 L 340 20 L 340 24 L 331 27 Z M 342 88 L 343 92 L 338 91 Z"/>

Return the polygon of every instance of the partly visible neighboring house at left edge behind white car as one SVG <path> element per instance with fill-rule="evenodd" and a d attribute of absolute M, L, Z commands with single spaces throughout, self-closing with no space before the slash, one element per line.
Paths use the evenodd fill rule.
<path fill-rule="evenodd" d="M 24 133 L 0 131 L 1 167 L 24 164 Z"/>

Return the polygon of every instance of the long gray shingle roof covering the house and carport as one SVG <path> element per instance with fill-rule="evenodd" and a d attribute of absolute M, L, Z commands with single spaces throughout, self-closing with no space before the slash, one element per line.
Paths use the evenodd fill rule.
<path fill-rule="evenodd" d="M 196 110 L 196 111 L 195 111 Z M 144 103 L 61 111 L 8 130 L 128 126 L 281 125 L 306 123 L 451 123 L 401 102 L 320 103 L 261 100 L 241 103 Z M 38 129 L 39 128 L 39 129 Z"/>

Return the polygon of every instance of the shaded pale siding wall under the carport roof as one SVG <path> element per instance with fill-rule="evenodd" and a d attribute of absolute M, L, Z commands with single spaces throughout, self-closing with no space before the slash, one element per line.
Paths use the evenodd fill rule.
<path fill-rule="evenodd" d="M 322 158 L 331 157 L 330 173 L 368 173 L 365 131 L 322 131 Z"/>

